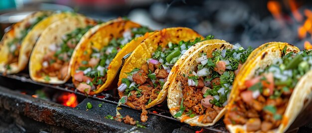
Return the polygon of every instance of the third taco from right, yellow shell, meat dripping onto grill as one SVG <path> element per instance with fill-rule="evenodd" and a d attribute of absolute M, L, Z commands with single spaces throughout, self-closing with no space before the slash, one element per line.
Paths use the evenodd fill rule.
<path fill-rule="evenodd" d="M 174 71 L 171 67 L 192 53 L 193 49 L 186 49 L 194 44 L 196 37 L 202 36 L 183 27 L 157 31 L 145 39 L 125 62 L 119 75 L 119 96 L 128 97 L 126 105 L 131 108 L 143 110 L 142 122 L 148 118 L 145 109 L 165 99 L 167 92 L 161 90 L 172 73 L 170 71 Z"/>

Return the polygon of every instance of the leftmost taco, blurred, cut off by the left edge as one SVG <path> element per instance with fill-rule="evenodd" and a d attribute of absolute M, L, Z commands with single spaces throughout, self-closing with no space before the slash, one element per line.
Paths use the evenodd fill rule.
<path fill-rule="evenodd" d="M 23 42 L 35 25 L 51 14 L 53 14 L 52 11 L 37 11 L 10 27 L 0 42 L 0 72 L 3 74 L 17 73 L 25 67 L 22 65 L 24 61 L 19 58 L 21 56 L 29 57 L 30 53 L 21 52 Z"/>

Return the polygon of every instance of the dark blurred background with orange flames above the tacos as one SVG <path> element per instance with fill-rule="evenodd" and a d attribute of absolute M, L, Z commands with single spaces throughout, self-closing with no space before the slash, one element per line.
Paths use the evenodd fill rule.
<path fill-rule="evenodd" d="M 312 0 L 0 0 L 0 34 L 40 9 L 104 21 L 126 16 L 153 29 L 185 26 L 245 47 L 282 41 L 303 49 L 312 42 Z"/>

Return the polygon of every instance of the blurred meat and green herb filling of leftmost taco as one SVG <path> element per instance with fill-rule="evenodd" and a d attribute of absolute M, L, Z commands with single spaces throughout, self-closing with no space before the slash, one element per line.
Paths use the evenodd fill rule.
<path fill-rule="evenodd" d="M 27 35 L 27 33 L 32 29 L 33 26 L 35 26 L 38 22 L 43 20 L 44 18 L 48 17 L 47 14 L 44 14 L 42 16 L 32 18 L 28 23 L 25 24 L 25 27 L 20 33 L 16 33 L 15 38 L 8 42 L 8 49 L 9 49 L 9 54 L 8 54 L 8 59 L 7 59 L 7 65 L 6 68 L 9 70 L 10 69 L 10 64 L 12 63 L 17 63 L 18 62 L 18 55 L 19 55 L 19 49 L 20 45 Z"/>

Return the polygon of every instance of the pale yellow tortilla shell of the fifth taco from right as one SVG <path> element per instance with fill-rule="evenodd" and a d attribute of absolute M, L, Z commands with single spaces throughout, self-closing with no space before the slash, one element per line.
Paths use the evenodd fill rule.
<path fill-rule="evenodd" d="M 30 78 L 37 82 L 63 84 L 70 78 L 70 67 L 67 69 L 67 74 L 63 80 L 57 76 L 49 76 L 50 80 L 45 80 L 45 75 L 38 76 L 37 71 L 42 68 L 42 59 L 49 52 L 50 45 L 60 45 L 62 36 L 74 31 L 77 28 L 84 28 L 88 25 L 94 25 L 95 21 L 81 15 L 71 15 L 62 18 L 53 24 L 49 25 L 41 34 L 37 41 L 29 61 Z"/>

